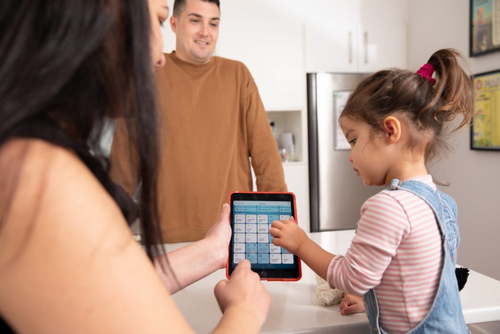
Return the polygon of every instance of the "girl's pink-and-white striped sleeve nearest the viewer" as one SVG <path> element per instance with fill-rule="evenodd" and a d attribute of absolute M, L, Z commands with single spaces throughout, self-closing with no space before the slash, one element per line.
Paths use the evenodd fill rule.
<path fill-rule="evenodd" d="M 362 295 L 380 284 L 385 269 L 410 231 L 406 212 L 393 197 L 380 192 L 361 206 L 356 234 L 345 256 L 335 256 L 326 274 L 328 284 Z"/>

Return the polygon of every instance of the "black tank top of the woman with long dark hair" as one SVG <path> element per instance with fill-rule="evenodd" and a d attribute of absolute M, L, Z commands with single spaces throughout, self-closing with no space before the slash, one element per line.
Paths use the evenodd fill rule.
<path fill-rule="evenodd" d="M 7 136 L 0 138 L 0 146 L 8 138 L 36 138 L 50 142 L 75 152 L 88 169 L 95 175 L 109 195 L 116 201 L 128 224 L 131 224 L 139 215 L 137 205 L 120 186 L 108 177 L 107 161 L 99 161 L 90 154 L 89 147 L 75 139 L 57 123 L 41 118 L 25 122 L 13 129 Z M 0 333 L 15 333 L 3 320 L 0 314 Z"/>

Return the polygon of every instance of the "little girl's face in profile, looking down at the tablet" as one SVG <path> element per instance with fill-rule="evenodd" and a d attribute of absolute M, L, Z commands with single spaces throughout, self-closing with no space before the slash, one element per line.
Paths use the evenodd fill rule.
<path fill-rule="evenodd" d="M 340 119 L 340 127 L 351 147 L 349 161 L 352 169 L 361 177 L 364 185 L 384 185 L 391 156 L 383 137 L 372 135 L 367 123 L 348 117 Z"/>

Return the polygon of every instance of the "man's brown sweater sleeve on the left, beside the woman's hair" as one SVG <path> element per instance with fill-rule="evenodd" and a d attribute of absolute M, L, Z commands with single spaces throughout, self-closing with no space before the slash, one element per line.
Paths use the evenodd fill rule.
<path fill-rule="evenodd" d="M 132 197 L 139 183 L 139 158 L 129 144 L 124 119 L 116 120 L 111 152 L 109 154 L 109 176 Z"/>

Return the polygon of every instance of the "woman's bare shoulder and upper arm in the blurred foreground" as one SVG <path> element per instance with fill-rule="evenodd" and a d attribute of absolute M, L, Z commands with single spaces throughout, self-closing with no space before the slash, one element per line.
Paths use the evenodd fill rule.
<path fill-rule="evenodd" d="M 0 182 L 14 184 L 0 204 L 0 313 L 16 331 L 189 331 L 77 156 L 15 140 L 0 147 L 0 168 Z"/>

